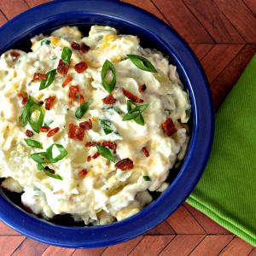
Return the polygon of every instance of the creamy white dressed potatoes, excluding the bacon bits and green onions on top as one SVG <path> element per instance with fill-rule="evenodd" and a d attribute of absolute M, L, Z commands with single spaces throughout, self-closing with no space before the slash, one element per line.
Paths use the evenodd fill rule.
<path fill-rule="evenodd" d="M 42 41 L 48 40 L 48 44 Z M 34 73 L 47 73 L 58 66 L 63 47 L 71 49 L 71 42 L 90 46 L 87 53 L 73 50 L 67 75 L 73 80 L 66 86 L 61 84 L 66 77 L 56 73 L 53 84 L 39 90 L 40 81 L 33 82 Z M 70 213 L 76 221 L 84 224 L 108 224 L 127 218 L 143 209 L 153 199 L 148 191 L 164 191 L 168 183 L 166 177 L 172 172 L 177 160 L 185 154 L 189 134 L 186 123 L 189 120 L 189 97 L 183 90 L 176 67 L 169 65 L 160 52 L 143 49 L 139 38 L 119 35 L 109 26 L 91 26 L 88 37 L 82 38 L 77 27 L 62 27 L 48 37 L 39 35 L 32 38 L 32 52 L 15 50 L 20 56 L 15 58 L 12 50 L 0 58 L 0 177 L 5 177 L 2 186 L 15 192 L 23 192 L 21 201 L 36 214 L 52 218 L 55 214 Z M 126 55 L 143 55 L 157 70 L 150 73 L 137 68 Z M 134 120 L 123 121 L 123 115 L 103 104 L 108 96 L 102 86 L 102 65 L 111 61 L 116 70 L 116 86 L 113 97 L 114 106 L 127 113 L 127 98 L 123 89 L 148 103 L 143 111 L 145 125 Z M 88 68 L 77 73 L 74 65 L 85 61 Z M 140 93 L 139 85 L 146 84 L 147 90 Z M 92 100 L 89 110 L 82 119 L 75 117 L 79 102 L 70 104 L 68 91 L 71 85 L 79 85 L 86 101 Z M 26 93 L 37 101 L 55 96 L 55 104 L 45 111 L 44 124 L 50 128 L 59 127 L 53 137 L 47 133 L 34 132 L 33 140 L 49 148 L 53 143 L 61 144 L 67 150 L 62 160 L 49 164 L 49 168 L 62 177 L 62 180 L 38 172 L 38 164 L 30 157 L 42 149 L 26 145 L 26 130 L 20 115 L 24 106 L 18 94 Z M 44 106 L 43 106 L 44 107 Z M 167 137 L 161 124 L 172 118 L 177 132 Z M 84 120 L 92 120 L 92 129 L 85 131 L 83 141 L 68 137 L 69 124 L 79 125 Z M 108 119 L 113 130 L 105 134 L 101 119 Z M 110 141 L 117 144 L 116 161 L 129 158 L 134 167 L 121 171 L 115 164 L 102 156 L 88 162 L 87 156 L 96 153 L 96 147 L 86 148 L 85 142 Z M 142 148 L 148 148 L 149 156 Z M 53 154 L 58 154 L 53 152 Z M 84 177 L 79 172 L 86 169 Z M 149 177 L 146 180 L 144 177 Z"/>

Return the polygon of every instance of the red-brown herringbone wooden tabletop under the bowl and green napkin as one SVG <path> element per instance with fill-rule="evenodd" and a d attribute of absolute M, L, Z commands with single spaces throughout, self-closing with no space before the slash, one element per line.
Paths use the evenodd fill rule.
<path fill-rule="evenodd" d="M 0 26 L 47 0 L 0 0 Z M 218 109 L 256 51 L 255 0 L 127 0 L 183 36 L 204 67 Z M 36 228 L 36 227 L 35 227 Z M 247 242 L 183 204 L 144 236 L 113 247 L 66 249 L 20 236 L 0 223 L 0 255 L 256 255 Z"/>

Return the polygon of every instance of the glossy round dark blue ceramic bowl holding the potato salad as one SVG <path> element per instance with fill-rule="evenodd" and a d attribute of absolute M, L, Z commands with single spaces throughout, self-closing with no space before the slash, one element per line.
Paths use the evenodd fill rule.
<path fill-rule="evenodd" d="M 2 193 L 0 218 L 20 233 L 62 247 L 105 247 L 130 240 L 160 224 L 195 188 L 207 164 L 213 137 L 212 100 L 206 76 L 189 46 L 170 26 L 142 9 L 117 1 L 55 1 L 10 20 L 0 28 L 0 54 L 7 49 L 26 49 L 29 38 L 61 26 L 93 24 L 114 26 L 121 33 L 141 38 L 144 47 L 159 49 L 177 66 L 192 103 L 192 134 L 183 166 L 160 197 L 131 218 L 96 227 L 67 227 L 49 223 L 15 206 Z"/>

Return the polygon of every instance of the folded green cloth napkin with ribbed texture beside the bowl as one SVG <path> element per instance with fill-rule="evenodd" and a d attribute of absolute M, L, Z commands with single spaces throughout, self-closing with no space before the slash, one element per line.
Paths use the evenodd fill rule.
<path fill-rule="evenodd" d="M 187 201 L 256 247 L 256 55 L 216 114 L 212 154 Z"/>

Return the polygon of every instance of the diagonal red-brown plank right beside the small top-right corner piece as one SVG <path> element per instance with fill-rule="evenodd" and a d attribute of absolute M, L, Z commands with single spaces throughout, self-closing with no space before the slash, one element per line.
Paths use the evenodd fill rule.
<path fill-rule="evenodd" d="M 249 43 L 256 43 L 256 18 L 245 3 L 241 0 L 232 1 L 232 4 L 228 4 L 226 0 L 214 2 L 240 32 L 242 38 Z"/>

